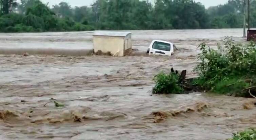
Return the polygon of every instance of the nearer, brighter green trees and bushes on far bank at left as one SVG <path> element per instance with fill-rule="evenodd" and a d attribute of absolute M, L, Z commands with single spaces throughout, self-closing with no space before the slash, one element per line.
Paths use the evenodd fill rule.
<path fill-rule="evenodd" d="M 55 13 L 40 0 L 23 0 L 22 2 L 24 7 L 28 7 L 26 14 L 12 13 L 0 16 L 1 32 L 94 30 L 94 27 L 88 25 L 86 21 L 83 21 L 84 24 L 81 24 L 76 23 L 72 18 L 58 18 Z"/>

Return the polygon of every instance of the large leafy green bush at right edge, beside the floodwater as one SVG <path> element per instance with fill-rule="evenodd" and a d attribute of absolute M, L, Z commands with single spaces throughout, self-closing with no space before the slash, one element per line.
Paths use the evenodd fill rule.
<path fill-rule="evenodd" d="M 217 93 L 248 96 L 248 91 L 243 89 L 255 84 L 256 75 L 256 46 L 253 42 L 242 45 L 226 38 L 224 46 L 218 46 L 218 50 L 205 43 L 199 48 L 200 63 L 194 69 L 199 75 L 196 85 Z"/>

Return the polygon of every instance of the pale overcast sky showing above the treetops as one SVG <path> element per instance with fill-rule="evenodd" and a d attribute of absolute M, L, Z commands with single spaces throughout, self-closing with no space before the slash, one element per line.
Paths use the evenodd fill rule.
<path fill-rule="evenodd" d="M 72 6 L 83 6 L 83 5 L 90 5 L 95 0 L 41 0 L 41 1 L 44 3 L 49 2 L 49 5 L 51 5 L 51 6 L 58 4 L 61 1 L 65 1 Z M 150 0 L 150 1 L 154 1 L 154 0 Z M 205 5 L 206 8 L 208 8 L 210 6 L 216 6 L 216 5 L 228 2 L 228 0 L 195 0 L 195 1 L 201 2 L 202 4 Z"/>

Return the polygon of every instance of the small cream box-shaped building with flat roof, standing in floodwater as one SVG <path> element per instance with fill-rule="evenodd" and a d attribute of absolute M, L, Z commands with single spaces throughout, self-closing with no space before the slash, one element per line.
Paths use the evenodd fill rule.
<path fill-rule="evenodd" d="M 132 49 L 132 33 L 96 31 L 93 35 L 94 53 L 110 52 L 113 56 L 124 56 Z"/>

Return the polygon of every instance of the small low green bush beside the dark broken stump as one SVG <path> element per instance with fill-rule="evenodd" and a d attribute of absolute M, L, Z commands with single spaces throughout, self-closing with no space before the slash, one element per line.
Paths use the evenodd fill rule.
<path fill-rule="evenodd" d="M 183 92 L 179 85 L 179 76 L 176 73 L 165 74 L 161 72 L 153 80 L 156 83 L 152 91 L 153 94 L 179 94 Z"/>

